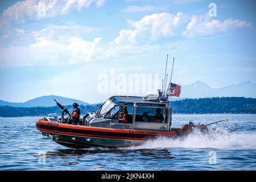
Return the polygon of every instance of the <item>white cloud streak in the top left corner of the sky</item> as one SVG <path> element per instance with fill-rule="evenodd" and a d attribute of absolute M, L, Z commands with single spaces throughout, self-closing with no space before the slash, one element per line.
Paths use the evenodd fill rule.
<path fill-rule="evenodd" d="M 96 7 L 104 5 L 105 0 L 26 0 L 16 2 L 3 11 L 1 24 L 6 20 L 15 23 L 24 23 L 26 20 L 39 20 L 67 14 L 70 10 L 81 10 L 93 3 Z"/>

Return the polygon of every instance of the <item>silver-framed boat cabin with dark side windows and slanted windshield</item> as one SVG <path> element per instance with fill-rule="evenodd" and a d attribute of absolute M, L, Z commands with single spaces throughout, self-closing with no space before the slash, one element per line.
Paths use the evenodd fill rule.
<path fill-rule="evenodd" d="M 125 123 L 122 111 L 126 110 Z M 85 126 L 113 129 L 169 131 L 172 107 L 168 101 L 146 100 L 144 97 L 112 96 L 97 111 L 83 117 Z"/>

